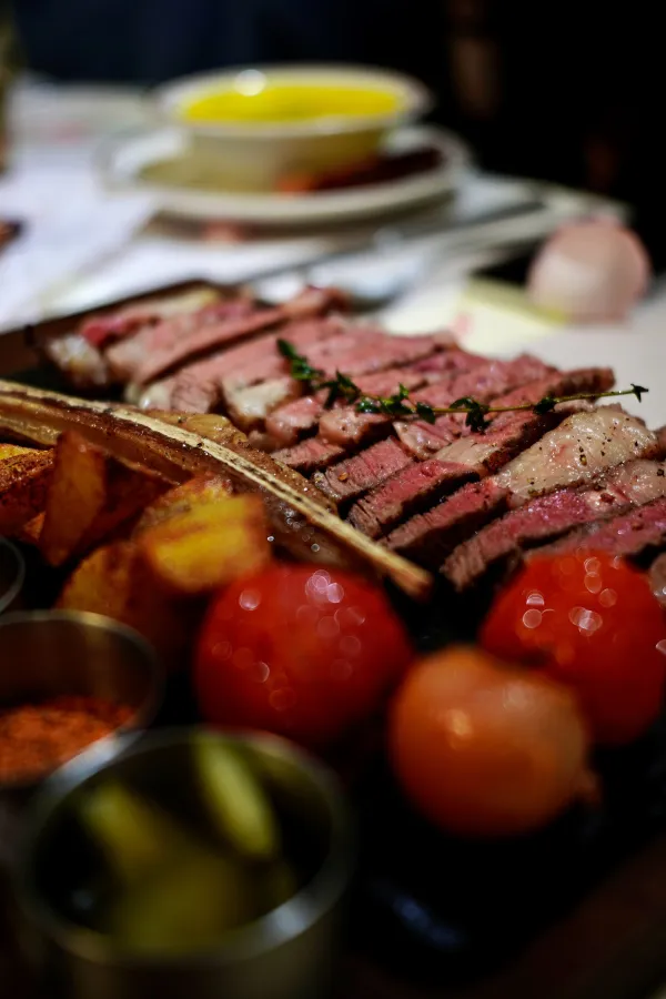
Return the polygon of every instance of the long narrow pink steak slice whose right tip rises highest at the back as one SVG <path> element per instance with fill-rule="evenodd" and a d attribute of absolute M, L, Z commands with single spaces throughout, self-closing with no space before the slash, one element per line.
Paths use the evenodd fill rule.
<path fill-rule="evenodd" d="M 306 289 L 275 307 L 253 309 L 240 319 L 189 330 L 184 334 L 181 324 L 160 323 L 111 347 L 109 363 L 128 381 L 144 385 L 188 357 L 210 353 L 222 344 L 238 342 L 292 319 L 322 315 L 339 301 L 340 295 L 334 290 Z"/>

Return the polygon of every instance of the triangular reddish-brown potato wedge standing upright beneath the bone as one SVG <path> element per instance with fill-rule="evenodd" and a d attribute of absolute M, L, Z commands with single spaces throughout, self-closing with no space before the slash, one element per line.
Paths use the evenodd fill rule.
<path fill-rule="evenodd" d="M 61 434 L 54 448 L 39 546 L 53 566 L 83 555 L 164 492 L 169 483 L 125 465 L 84 441 Z"/>

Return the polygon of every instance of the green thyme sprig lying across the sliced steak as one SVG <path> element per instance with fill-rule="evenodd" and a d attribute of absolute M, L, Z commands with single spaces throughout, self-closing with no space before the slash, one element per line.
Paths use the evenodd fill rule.
<path fill-rule="evenodd" d="M 427 402 L 412 400 L 405 385 L 398 385 L 393 395 L 366 395 L 343 372 L 336 371 L 335 376 L 327 379 L 325 372 L 313 367 L 307 357 L 300 354 L 287 340 L 278 341 L 278 350 L 290 363 L 290 374 L 299 382 L 307 382 L 312 392 L 326 390 L 324 401 L 325 408 L 330 410 L 337 400 L 355 404 L 359 413 L 377 413 L 395 418 L 417 417 L 425 423 L 434 423 L 437 416 L 446 413 L 466 413 L 465 423 L 473 431 L 483 432 L 490 421 L 488 413 L 509 413 L 521 410 L 532 410 L 534 413 L 549 413 L 559 403 L 577 402 L 586 398 L 610 398 L 620 395 L 634 395 L 640 402 L 643 395 L 649 392 L 643 385 L 634 385 L 630 389 L 615 389 L 610 392 L 579 392 L 576 395 L 544 395 L 536 403 L 522 403 L 517 406 L 492 406 L 480 402 L 471 395 L 456 398 L 448 406 L 433 406 Z"/>

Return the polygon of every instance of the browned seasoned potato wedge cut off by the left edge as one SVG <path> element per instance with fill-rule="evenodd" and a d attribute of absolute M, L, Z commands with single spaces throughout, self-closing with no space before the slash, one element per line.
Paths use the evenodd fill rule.
<path fill-rule="evenodd" d="M 0 535 L 13 535 L 47 502 L 52 451 L 0 445 Z"/>

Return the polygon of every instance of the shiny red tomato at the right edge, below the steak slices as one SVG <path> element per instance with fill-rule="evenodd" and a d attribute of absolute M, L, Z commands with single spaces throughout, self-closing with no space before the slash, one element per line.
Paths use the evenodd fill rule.
<path fill-rule="evenodd" d="M 605 553 L 529 562 L 494 603 L 481 643 L 573 687 L 599 743 L 632 741 L 662 708 L 666 619 L 646 576 Z"/>

